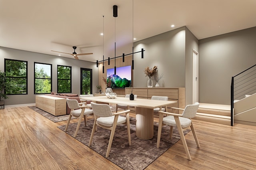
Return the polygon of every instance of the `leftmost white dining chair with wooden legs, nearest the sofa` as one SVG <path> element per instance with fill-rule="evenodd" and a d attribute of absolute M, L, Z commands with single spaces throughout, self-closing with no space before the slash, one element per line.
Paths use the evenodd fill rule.
<path fill-rule="evenodd" d="M 73 117 L 79 118 L 77 127 L 76 127 L 76 132 L 74 135 L 74 137 L 76 137 L 82 118 L 84 117 L 84 125 L 86 126 L 87 116 L 93 115 L 93 111 L 92 109 L 87 109 L 89 105 L 82 106 L 81 104 L 86 104 L 86 103 L 78 103 L 76 99 L 66 99 L 66 101 L 71 111 L 68 117 L 68 123 L 66 125 L 65 132 L 68 130 L 68 125 L 70 123 L 71 117 L 73 116 Z"/>

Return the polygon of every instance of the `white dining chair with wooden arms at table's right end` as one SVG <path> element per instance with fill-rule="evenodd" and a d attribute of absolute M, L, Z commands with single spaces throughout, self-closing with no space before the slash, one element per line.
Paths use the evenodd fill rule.
<path fill-rule="evenodd" d="M 188 129 L 189 127 L 192 130 L 192 133 L 194 135 L 194 138 L 196 140 L 196 145 L 198 148 L 200 148 L 200 144 L 198 141 L 198 138 L 196 136 L 196 131 L 193 127 L 192 124 L 192 118 L 196 116 L 196 112 L 198 110 L 199 103 L 196 102 L 193 105 L 187 105 L 185 109 L 180 109 L 180 108 L 175 108 L 173 107 L 172 109 L 178 109 L 178 110 L 183 110 L 182 114 L 176 114 L 176 113 L 169 113 L 169 112 L 164 112 L 164 111 L 159 111 L 159 125 L 158 125 L 158 134 L 157 134 L 157 142 L 156 142 L 156 147 L 159 148 L 160 145 L 160 138 L 161 138 L 161 131 L 162 131 L 162 126 L 163 125 L 170 125 L 170 139 L 172 138 L 172 128 L 176 126 L 178 128 L 180 138 L 182 140 L 185 152 L 187 154 L 188 160 L 191 160 L 188 146 L 186 143 L 185 136 L 183 134 L 183 131 Z M 168 115 L 167 117 L 163 117 L 163 114 Z"/>

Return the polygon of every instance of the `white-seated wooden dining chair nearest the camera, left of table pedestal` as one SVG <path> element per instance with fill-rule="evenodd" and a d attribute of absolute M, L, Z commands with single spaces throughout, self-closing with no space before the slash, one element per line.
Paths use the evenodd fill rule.
<path fill-rule="evenodd" d="M 108 149 L 107 149 L 107 153 L 106 153 L 106 158 L 107 158 L 110 153 L 110 148 L 112 145 L 116 126 L 120 125 L 120 124 L 127 125 L 128 143 L 130 146 L 131 145 L 130 117 L 129 117 L 130 110 L 121 111 L 118 113 L 112 113 L 109 105 L 97 104 L 97 103 L 93 103 L 93 102 L 91 102 L 91 105 L 92 105 L 92 110 L 94 112 L 94 124 L 92 127 L 92 133 L 90 136 L 90 141 L 89 141 L 88 146 L 91 146 L 91 144 L 92 144 L 92 139 L 93 139 L 94 132 L 95 132 L 97 126 L 110 130 L 111 133 L 110 133 Z M 125 113 L 126 117 L 119 116 L 124 113 Z"/>

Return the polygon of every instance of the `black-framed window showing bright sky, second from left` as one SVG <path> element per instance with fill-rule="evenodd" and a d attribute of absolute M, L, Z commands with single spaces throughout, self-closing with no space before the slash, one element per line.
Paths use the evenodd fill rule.
<path fill-rule="evenodd" d="M 51 93 L 52 65 L 34 63 L 34 94 Z"/>

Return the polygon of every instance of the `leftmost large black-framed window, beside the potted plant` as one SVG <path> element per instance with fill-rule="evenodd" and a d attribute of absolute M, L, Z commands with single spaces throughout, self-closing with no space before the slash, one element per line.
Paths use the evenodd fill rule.
<path fill-rule="evenodd" d="M 28 61 L 4 59 L 6 73 L 6 95 L 28 94 Z"/>

